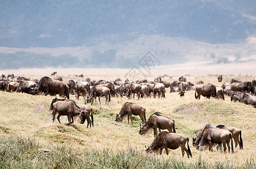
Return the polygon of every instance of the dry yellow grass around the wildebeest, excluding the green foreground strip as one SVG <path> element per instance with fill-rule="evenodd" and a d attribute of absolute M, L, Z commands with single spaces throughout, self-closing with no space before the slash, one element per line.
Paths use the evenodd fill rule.
<path fill-rule="evenodd" d="M 70 77 L 67 77 L 70 78 Z M 95 79 L 115 79 L 117 77 L 95 77 Z M 94 79 L 93 77 L 91 79 Z M 218 86 L 216 77 L 189 77 L 188 81 L 197 82 L 202 79 L 205 83 L 211 82 Z M 242 81 L 245 81 L 243 78 Z M 248 78 L 251 80 L 251 78 Z M 229 81 L 230 79 L 225 79 Z M 146 117 L 158 111 L 168 114 L 175 119 L 176 132 L 189 137 L 189 145 L 193 158 L 181 158 L 181 149 L 170 150 L 179 161 L 185 163 L 196 163 L 199 158 L 209 163 L 227 163 L 241 166 L 250 160 L 255 161 L 256 152 L 256 109 L 250 105 L 233 103 L 230 97 L 225 96 L 225 100 L 194 99 L 194 91 L 189 91 L 185 97 L 180 97 L 177 93 L 170 93 L 167 88 L 165 99 L 139 99 L 127 100 L 126 98 L 111 98 L 109 105 L 92 105 L 95 119 L 94 127 L 86 128 L 85 124 L 72 124 L 66 126 L 67 118 L 61 118 L 61 124 L 52 122 L 52 112 L 49 110 L 52 96 L 32 96 L 28 94 L 0 92 L 0 136 L 22 136 L 32 137 L 40 141 L 44 146 L 64 144 L 72 149 L 108 149 L 112 153 L 127 151 L 130 148 L 144 152 L 144 146 L 150 145 L 153 141 L 152 132 L 148 135 L 139 135 L 140 119 L 135 117 L 134 126 L 127 121 L 117 123 L 114 121 L 116 113 L 119 113 L 122 104 L 126 101 L 138 103 L 146 108 Z M 71 99 L 75 97 L 71 95 Z M 105 103 L 105 99 L 101 99 Z M 76 100 L 78 101 L 78 100 Z M 79 100 L 83 103 L 83 100 Z M 199 152 L 192 146 L 194 131 L 202 129 L 205 124 L 216 126 L 224 124 L 236 126 L 242 130 L 244 149 L 234 148 L 234 153 L 221 152 Z M 145 154 L 146 155 L 146 154 Z M 170 157 L 171 155 L 169 155 Z M 161 158 L 160 158 L 161 159 Z M 163 159 L 168 159 L 164 153 Z"/>

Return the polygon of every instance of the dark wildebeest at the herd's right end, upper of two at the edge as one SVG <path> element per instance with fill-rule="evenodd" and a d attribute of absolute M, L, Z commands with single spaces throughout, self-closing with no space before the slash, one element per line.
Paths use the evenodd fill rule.
<path fill-rule="evenodd" d="M 253 82 L 250 82 L 250 81 L 246 81 L 242 83 L 236 82 L 231 84 L 231 91 L 248 92 L 248 93 L 251 92 L 251 94 L 254 94 L 255 86 Z"/>

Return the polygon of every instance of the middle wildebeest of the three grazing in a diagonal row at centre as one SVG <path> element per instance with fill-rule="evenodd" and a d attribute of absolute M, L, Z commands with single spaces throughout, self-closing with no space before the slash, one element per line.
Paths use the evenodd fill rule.
<path fill-rule="evenodd" d="M 157 135 L 157 128 L 159 128 L 159 132 L 165 129 L 167 129 L 169 132 L 176 132 L 174 127 L 174 120 L 160 112 L 155 112 L 151 114 L 150 117 L 148 118 L 148 121 L 140 125 L 139 134 L 144 135 L 151 128 L 153 128 L 155 137 Z"/>

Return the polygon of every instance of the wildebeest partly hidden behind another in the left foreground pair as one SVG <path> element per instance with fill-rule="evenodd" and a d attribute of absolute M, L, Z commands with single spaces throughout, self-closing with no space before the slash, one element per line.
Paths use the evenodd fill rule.
<path fill-rule="evenodd" d="M 50 110 L 53 110 L 53 103 L 56 103 L 57 101 L 72 101 L 73 103 L 75 103 L 76 105 L 78 105 L 79 106 L 79 108 L 81 109 L 81 110 L 83 110 L 84 112 L 85 112 L 85 114 L 86 114 L 86 120 L 87 120 L 87 128 L 88 128 L 88 126 L 90 125 L 90 127 L 91 127 L 91 125 L 93 126 L 93 113 L 92 113 L 92 108 L 90 107 L 90 106 L 88 106 L 88 105 L 86 105 L 86 104 L 80 104 L 80 103 L 76 103 L 74 100 L 71 100 L 71 99 L 57 99 L 57 97 L 55 97 L 53 100 L 52 100 L 52 103 L 50 104 Z M 92 120 L 90 119 L 90 113 L 91 113 L 91 118 L 92 118 Z M 74 118 L 75 118 L 75 121 L 76 122 L 82 122 L 82 121 L 85 121 L 85 119 L 83 119 L 84 118 L 84 115 L 81 115 L 81 114 L 79 114 L 79 115 L 75 115 L 74 116 Z"/>

